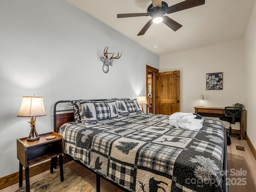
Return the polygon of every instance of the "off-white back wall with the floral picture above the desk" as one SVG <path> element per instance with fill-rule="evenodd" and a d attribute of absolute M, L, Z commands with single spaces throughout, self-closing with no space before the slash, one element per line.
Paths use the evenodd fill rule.
<path fill-rule="evenodd" d="M 200 94 L 203 106 L 245 104 L 243 39 L 160 56 L 159 71 L 173 70 L 180 70 L 181 112 L 194 112 Z M 206 73 L 214 72 L 223 72 L 223 90 L 206 90 Z"/>

